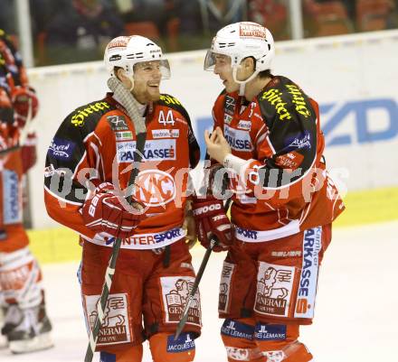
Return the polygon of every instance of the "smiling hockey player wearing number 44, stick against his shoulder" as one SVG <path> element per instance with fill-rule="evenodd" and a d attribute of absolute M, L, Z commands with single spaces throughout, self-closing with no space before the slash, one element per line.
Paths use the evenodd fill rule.
<path fill-rule="evenodd" d="M 62 122 L 47 153 L 45 205 L 52 218 L 81 235 L 81 293 L 90 328 L 112 243 L 123 239 L 97 343 L 100 360 L 141 361 L 142 342 L 148 339 L 155 362 L 192 361 L 201 330 L 198 293 L 184 333 L 177 340 L 174 333 L 194 282 L 183 224 L 188 171 L 199 162 L 199 146 L 185 108 L 159 93 L 170 70 L 154 42 L 115 38 L 105 63 L 146 117 L 135 209 L 124 208 L 119 192 L 137 166 L 136 131 L 123 100 L 113 93 L 77 108 Z"/>

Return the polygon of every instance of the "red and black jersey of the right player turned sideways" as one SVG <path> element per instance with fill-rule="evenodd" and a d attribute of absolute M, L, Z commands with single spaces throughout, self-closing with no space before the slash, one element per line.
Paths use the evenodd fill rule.
<path fill-rule="evenodd" d="M 248 160 L 234 172 L 232 223 L 239 239 L 293 235 L 342 212 L 323 162 L 317 102 L 290 79 L 272 78 L 251 102 L 223 92 L 213 118 L 232 154 Z"/>

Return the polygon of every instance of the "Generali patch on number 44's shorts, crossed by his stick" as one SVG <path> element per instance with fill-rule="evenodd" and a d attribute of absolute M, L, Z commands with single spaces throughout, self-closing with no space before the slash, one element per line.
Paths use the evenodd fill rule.
<path fill-rule="evenodd" d="M 90 329 L 97 318 L 97 302 L 100 295 L 85 295 L 85 307 Z M 104 311 L 104 321 L 100 328 L 98 346 L 115 345 L 132 341 L 128 323 L 128 298 L 126 293 L 109 294 Z"/>

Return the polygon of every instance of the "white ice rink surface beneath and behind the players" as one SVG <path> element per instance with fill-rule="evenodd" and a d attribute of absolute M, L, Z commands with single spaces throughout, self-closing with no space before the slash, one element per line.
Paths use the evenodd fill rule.
<path fill-rule="evenodd" d="M 203 254 L 203 248 L 194 249 L 196 270 Z M 223 256 L 211 256 L 201 283 L 204 330 L 196 339 L 195 362 L 227 360 L 216 311 Z M 334 230 L 320 272 L 315 321 L 301 333 L 314 361 L 398 360 L 397 259 L 398 221 Z M 77 267 L 77 263 L 43 266 L 55 347 L 19 356 L 0 350 L 1 362 L 83 361 L 87 336 L 75 277 Z M 147 348 L 143 361 L 152 361 Z"/>

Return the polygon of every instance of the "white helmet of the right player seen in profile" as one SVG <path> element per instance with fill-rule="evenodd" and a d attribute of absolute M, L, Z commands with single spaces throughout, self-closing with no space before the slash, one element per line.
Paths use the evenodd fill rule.
<path fill-rule="evenodd" d="M 231 58 L 233 80 L 244 84 L 262 70 L 270 70 L 275 56 L 275 44 L 270 31 L 259 23 L 242 22 L 224 26 L 213 38 L 212 47 L 207 51 L 204 70 L 214 69 L 215 54 Z M 253 57 L 256 68 L 249 79 L 236 79 L 236 72 L 243 59 Z"/>

